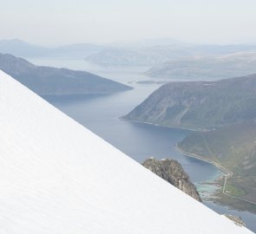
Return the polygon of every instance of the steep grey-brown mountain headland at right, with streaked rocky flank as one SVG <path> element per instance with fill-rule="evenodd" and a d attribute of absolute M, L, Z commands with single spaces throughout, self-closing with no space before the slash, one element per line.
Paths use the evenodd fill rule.
<path fill-rule="evenodd" d="M 256 75 L 221 81 L 169 82 L 125 119 L 197 130 L 256 118 Z"/>

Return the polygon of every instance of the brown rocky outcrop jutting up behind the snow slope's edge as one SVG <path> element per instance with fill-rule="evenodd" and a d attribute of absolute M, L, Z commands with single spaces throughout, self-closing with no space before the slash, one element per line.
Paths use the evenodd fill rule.
<path fill-rule="evenodd" d="M 178 161 L 174 159 L 147 159 L 142 163 L 142 166 L 201 202 L 196 187 Z"/>

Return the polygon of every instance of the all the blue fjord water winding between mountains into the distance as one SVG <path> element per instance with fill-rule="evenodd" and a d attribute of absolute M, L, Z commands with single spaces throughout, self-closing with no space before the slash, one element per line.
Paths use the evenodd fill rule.
<path fill-rule="evenodd" d="M 215 179 L 221 174 L 215 166 L 198 159 L 188 158 L 174 149 L 174 144 L 184 139 L 190 133 L 189 131 L 119 119 L 124 114 L 128 114 L 156 88 L 160 87 L 156 84 L 130 83 L 130 81 L 154 80 L 142 75 L 147 68 L 102 67 L 84 61 L 68 60 L 40 59 L 30 61 L 38 65 L 83 69 L 132 85 L 133 90 L 110 95 L 46 97 L 51 104 L 62 112 L 68 114 L 83 126 L 88 127 L 92 132 L 98 134 L 131 158 L 138 162 L 142 162 L 149 157 L 177 159 L 190 179 L 199 187 L 200 182 Z M 206 190 L 206 187 L 203 187 L 202 190 Z M 228 207 L 216 205 L 209 201 L 205 202 L 205 205 L 222 214 L 232 213 L 240 216 L 246 222 L 248 228 L 256 231 L 256 216 L 254 214 L 232 211 Z"/>

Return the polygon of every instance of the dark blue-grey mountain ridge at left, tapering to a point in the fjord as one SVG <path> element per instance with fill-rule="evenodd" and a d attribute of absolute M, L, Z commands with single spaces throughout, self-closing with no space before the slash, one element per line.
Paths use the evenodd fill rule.
<path fill-rule="evenodd" d="M 8 54 L 0 54 L 0 69 L 40 95 L 112 94 L 131 89 L 86 71 L 36 66 Z"/>

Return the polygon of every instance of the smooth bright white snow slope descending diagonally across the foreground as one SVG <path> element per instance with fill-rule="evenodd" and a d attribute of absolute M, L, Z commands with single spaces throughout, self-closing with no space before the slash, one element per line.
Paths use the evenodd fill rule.
<path fill-rule="evenodd" d="M 0 233 L 252 233 L 0 71 Z"/>

